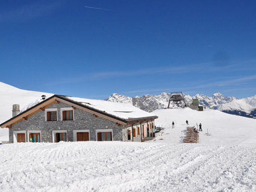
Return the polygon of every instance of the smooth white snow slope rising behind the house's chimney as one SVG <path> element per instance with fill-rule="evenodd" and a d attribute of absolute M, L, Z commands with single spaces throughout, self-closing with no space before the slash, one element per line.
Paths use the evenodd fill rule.
<path fill-rule="evenodd" d="M 47 97 L 52 96 L 51 93 L 43 93 L 37 91 L 26 91 L 11 85 L 0 82 L 0 123 L 12 117 L 13 104 L 19 104 L 20 110 L 31 102 L 40 99 L 45 94 Z M 8 129 L 0 128 L 0 140 L 8 141 Z"/>

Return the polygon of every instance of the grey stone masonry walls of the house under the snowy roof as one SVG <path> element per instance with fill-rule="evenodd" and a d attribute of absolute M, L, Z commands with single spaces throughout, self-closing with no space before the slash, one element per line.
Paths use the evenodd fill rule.
<path fill-rule="evenodd" d="M 89 130 L 89 140 L 96 141 L 96 130 L 104 129 L 110 130 L 112 132 L 112 137 L 114 141 L 142 141 L 141 134 L 136 133 L 136 137 L 128 140 L 128 129 L 131 130 L 131 125 L 120 125 L 117 126 L 116 122 L 105 119 L 103 117 L 95 117 L 93 113 L 81 110 L 76 108 L 73 110 L 73 120 L 61 120 L 61 108 L 71 108 L 71 105 L 60 102 L 57 104 L 49 105 L 45 108 L 47 109 L 57 109 L 57 121 L 46 121 L 46 111 L 37 111 L 31 116 L 28 116 L 27 120 L 20 120 L 9 129 L 9 142 L 13 143 L 14 132 L 25 133 L 25 141 L 28 142 L 28 133 L 29 132 L 40 132 L 41 142 L 52 143 L 53 140 L 53 131 L 63 132 L 66 131 L 67 141 L 73 141 L 73 130 Z M 152 120 L 154 122 L 154 120 Z M 149 122 L 148 122 L 149 123 Z M 147 122 L 143 122 L 142 125 L 147 125 Z M 133 128 L 140 126 L 140 123 L 134 124 Z M 136 130 L 137 131 L 137 130 Z M 154 126 L 152 127 L 151 132 L 154 132 Z M 146 137 L 145 133 L 145 137 Z"/>

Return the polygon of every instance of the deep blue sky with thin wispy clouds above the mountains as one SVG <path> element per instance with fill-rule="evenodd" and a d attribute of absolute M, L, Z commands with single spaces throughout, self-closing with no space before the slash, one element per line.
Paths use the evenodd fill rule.
<path fill-rule="evenodd" d="M 90 99 L 256 94 L 256 1 L 0 1 L 0 81 Z"/>

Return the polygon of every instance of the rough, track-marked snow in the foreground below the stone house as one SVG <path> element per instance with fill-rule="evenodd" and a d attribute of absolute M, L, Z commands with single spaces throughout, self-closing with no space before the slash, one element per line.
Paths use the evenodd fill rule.
<path fill-rule="evenodd" d="M 256 191 L 249 147 L 90 141 L 0 149 L 0 191 Z"/>

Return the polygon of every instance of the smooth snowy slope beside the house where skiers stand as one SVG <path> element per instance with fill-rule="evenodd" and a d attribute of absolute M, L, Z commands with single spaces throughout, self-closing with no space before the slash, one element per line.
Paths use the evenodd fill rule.
<path fill-rule="evenodd" d="M 256 147 L 256 119 L 234 116 L 217 110 L 195 111 L 190 108 L 166 109 L 153 111 L 158 119 L 155 125 L 166 128 L 161 135 L 160 142 L 179 143 L 186 129 L 186 120 L 189 126 L 202 124 L 202 132 L 199 133 L 199 143 L 202 144 L 229 144 L 239 146 Z M 172 129 L 172 121 L 175 128 Z M 211 136 L 206 135 L 210 133 Z M 168 133 L 168 134 L 166 134 Z M 157 138 L 159 140 L 159 138 Z"/>

